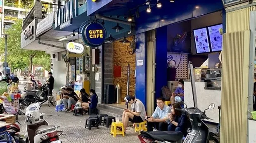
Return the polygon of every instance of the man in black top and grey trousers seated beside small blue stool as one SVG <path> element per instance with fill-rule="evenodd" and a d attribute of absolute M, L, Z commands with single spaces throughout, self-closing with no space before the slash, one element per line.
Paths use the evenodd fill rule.
<path fill-rule="evenodd" d="M 64 93 L 64 98 L 62 99 L 62 102 L 66 107 L 65 112 L 71 112 L 71 105 L 76 105 L 77 101 L 78 101 L 78 96 L 76 95 L 76 92 L 73 92 L 71 88 L 66 88 L 66 92 Z"/>

